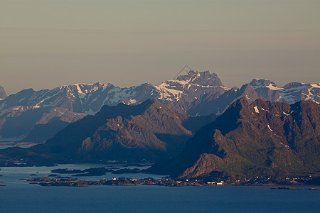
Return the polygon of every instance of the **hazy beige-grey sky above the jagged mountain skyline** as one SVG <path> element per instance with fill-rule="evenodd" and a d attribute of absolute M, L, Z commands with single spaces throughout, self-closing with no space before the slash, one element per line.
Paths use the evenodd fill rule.
<path fill-rule="evenodd" d="M 319 11 L 319 0 L 1 0 L 0 85 L 159 85 L 185 65 L 227 87 L 317 83 Z"/>

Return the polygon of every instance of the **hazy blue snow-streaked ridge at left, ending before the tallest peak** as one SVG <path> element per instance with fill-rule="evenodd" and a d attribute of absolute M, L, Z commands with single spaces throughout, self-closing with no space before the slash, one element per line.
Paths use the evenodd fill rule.
<path fill-rule="evenodd" d="M 150 84 L 119 88 L 112 84 L 73 84 L 52 90 L 25 89 L 0 101 L 0 136 L 23 137 L 36 124 L 68 123 L 95 114 L 105 104 L 134 104 L 152 97 Z M 156 94 L 154 94 L 155 96 Z"/>

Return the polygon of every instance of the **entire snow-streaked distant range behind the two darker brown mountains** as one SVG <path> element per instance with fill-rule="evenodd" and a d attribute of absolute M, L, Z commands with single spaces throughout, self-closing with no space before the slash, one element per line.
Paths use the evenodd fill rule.
<path fill-rule="evenodd" d="M 252 80 L 240 89 L 225 87 L 215 73 L 191 70 L 159 86 L 141 84 L 120 88 L 112 84 L 72 84 L 34 91 L 24 89 L 0 100 L 0 137 L 25 137 L 34 125 L 53 120 L 72 123 L 95 114 L 104 105 L 135 105 L 157 99 L 167 107 L 191 116 L 220 115 L 236 99 L 245 97 L 274 102 L 312 100 L 320 103 L 320 84 L 290 83 L 277 87 L 270 80 Z M 25 119 L 28 118 L 28 119 Z"/>

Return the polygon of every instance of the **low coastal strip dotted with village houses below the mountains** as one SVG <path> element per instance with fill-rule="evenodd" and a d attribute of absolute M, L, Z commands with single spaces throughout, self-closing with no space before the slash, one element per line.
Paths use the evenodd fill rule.
<path fill-rule="evenodd" d="M 21 179 L 25 180 L 25 179 Z M 132 185 L 159 185 L 166 187 L 183 187 L 183 186 L 210 186 L 210 185 L 319 185 L 319 178 L 300 177 L 300 178 L 282 178 L 273 179 L 272 177 L 263 178 L 245 178 L 242 180 L 232 181 L 231 179 L 219 180 L 206 180 L 206 179 L 181 179 L 174 180 L 171 178 L 112 178 L 111 180 L 78 180 L 77 178 L 31 178 L 26 180 L 30 184 L 38 184 L 41 186 L 68 186 L 68 187 L 86 187 L 89 185 L 119 185 L 119 186 L 132 186 Z"/>

